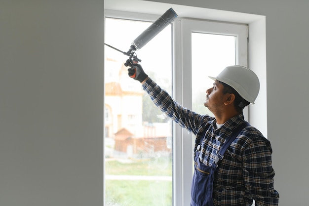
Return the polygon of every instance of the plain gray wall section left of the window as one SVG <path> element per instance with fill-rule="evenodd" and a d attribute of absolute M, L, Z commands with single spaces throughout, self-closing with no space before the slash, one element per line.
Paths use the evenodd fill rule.
<path fill-rule="evenodd" d="M 103 205 L 103 0 L 0 1 L 0 205 Z"/>

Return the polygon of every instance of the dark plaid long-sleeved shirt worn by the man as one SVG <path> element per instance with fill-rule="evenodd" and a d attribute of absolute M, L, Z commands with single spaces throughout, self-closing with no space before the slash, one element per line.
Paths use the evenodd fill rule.
<path fill-rule="evenodd" d="M 194 148 L 202 139 L 199 159 L 204 165 L 212 165 L 227 137 L 244 122 L 240 114 L 216 129 L 215 118 L 182 107 L 150 78 L 143 89 L 166 116 L 196 135 Z M 207 131 L 202 137 L 204 129 Z M 214 205 L 251 206 L 254 199 L 256 206 L 277 206 L 279 194 L 273 187 L 271 153 L 270 142 L 259 130 L 251 125 L 242 129 L 216 170 Z"/>

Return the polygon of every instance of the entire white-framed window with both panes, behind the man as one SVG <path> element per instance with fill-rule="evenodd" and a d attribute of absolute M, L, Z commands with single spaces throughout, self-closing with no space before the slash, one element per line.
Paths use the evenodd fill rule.
<path fill-rule="evenodd" d="M 125 18 L 117 12 L 106 15 L 105 42 L 125 52 L 151 24 L 145 21 L 158 17 L 134 14 L 133 21 L 130 14 Z M 246 25 L 179 18 L 137 55 L 145 72 L 176 101 L 206 112 L 199 106 L 203 105 L 200 97 L 213 83 L 206 82 L 207 76 L 231 64 L 247 64 L 246 31 Z M 210 57 L 218 56 L 215 50 L 220 59 Z M 104 101 L 113 116 L 113 127 L 105 132 L 105 205 L 190 205 L 192 134 L 164 117 L 140 83 L 127 77 L 126 59 L 105 47 Z"/>

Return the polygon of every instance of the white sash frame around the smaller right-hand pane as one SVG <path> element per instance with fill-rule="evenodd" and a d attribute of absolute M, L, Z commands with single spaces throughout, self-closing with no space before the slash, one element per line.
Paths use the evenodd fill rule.
<path fill-rule="evenodd" d="M 207 33 L 207 34 L 216 34 L 216 35 L 229 35 L 235 36 L 236 41 L 236 64 L 247 66 L 247 28 L 246 24 L 235 24 L 227 22 L 217 22 L 217 21 L 208 21 L 208 20 L 199 20 L 199 19 L 188 19 L 183 18 L 181 21 L 181 42 L 178 42 L 176 45 L 181 45 L 181 48 L 175 48 L 176 50 L 181 50 L 181 56 L 186 58 L 181 58 L 181 68 L 182 68 L 182 77 L 181 83 L 179 85 L 174 85 L 176 88 L 181 88 L 181 96 L 175 96 L 176 101 L 181 102 L 182 105 L 188 109 L 192 109 L 192 33 Z M 228 65 L 227 65 L 228 66 Z M 174 68 L 175 69 L 175 68 Z M 176 70 L 174 70 L 176 72 Z M 207 77 L 205 77 L 207 78 Z M 205 90 L 208 88 L 205 85 Z M 186 98 L 184 98 L 186 97 Z M 191 98 L 188 98 L 191 97 Z M 248 120 L 248 107 L 243 110 L 244 117 Z M 193 140 L 192 134 L 187 130 L 175 127 L 175 130 L 182 130 L 182 171 L 184 177 L 193 176 L 193 158 L 192 158 L 192 148 Z M 177 138 L 175 138 L 177 139 Z M 174 150 L 175 151 L 175 150 Z M 176 162 L 178 160 L 176 159 Z M 178 168 L 180 169 L 180 168 Z M 191 178 L 182 179 L 182 197 L 183 197 L 183 206 L 190 205 L 191 200 Z M 178 200 L 179 202 L 180 200 Z M 178 204 L 176 204 L 178 205 Z"/>

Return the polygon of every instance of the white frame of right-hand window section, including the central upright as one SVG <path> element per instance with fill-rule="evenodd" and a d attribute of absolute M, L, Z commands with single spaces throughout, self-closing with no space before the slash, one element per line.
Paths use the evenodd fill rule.
<path fill-rule="evenodd" d="M 175 54 L 175 81 L 174 81 L 174 98 L 181 102 L 182 105 L 192 108 L 192 33 L 205 33 L 216 35 L 229 35 L 236 37 L 236 57 L 235 62 L 238 65 L 247 66 L 247 31 L 248 26 L 245 24 L 232 24 L 224 22 L 214 22 L 195 19 L 179 19 L 174 27 L 174 34 L 181 34 L 181 38 L 174 35 L 174 54 Z M 180 51 L 180 52 L 179 52 Z M 229 66 L 229 65 L 227 65 Z M 181 69 L 180 69 L 181 68 Z M 207 77 L 205 77 L 207 78 Z M 205 90 L 207 85 L 205 85 Z M 179 89 L 180 90 L 177 90 Z M 243 110 L 245 119 L 248 120 L 248 108 Z M 175 170 L 177 173 L 182 171 L 182 178 L 176 176 L 174 206 L 190 205 L 191 200 L 191 181 L 193 176 L 193 156 L 192 156 L 192 134 L 187 130 L 175 126 L 175 135 L 181 136 L 182 142 L 174 145 L 174 157 L 176 158 Z M 177 157 L 182 157 L 181 160 Z M 176 173 L 176 175 L 177 175 Z M 182 191 L 177 190 L 182 188 Z"/>

